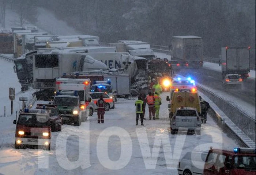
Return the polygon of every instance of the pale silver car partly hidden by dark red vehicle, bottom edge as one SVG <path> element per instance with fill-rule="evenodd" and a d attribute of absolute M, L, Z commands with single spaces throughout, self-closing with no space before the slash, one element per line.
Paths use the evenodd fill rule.
<path fill-rule="evenodd" d="M 179 175 L 204 174 L 204 162 L 208 152 L 192 151 L 187 152 L 178 164 Z"/>

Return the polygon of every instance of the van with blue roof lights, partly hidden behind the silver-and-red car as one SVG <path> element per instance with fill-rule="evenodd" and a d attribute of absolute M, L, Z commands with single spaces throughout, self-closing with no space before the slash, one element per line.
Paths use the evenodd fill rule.
<path fill-rule="evenodd" d="M 116 101 L 116 96 L 114 95 L 115 92 L 113 92 L 110 79 L 108 79 L 108 81 L 94 81 L 91 86 L 91 92 L 104 92 L 108 94 L 113 101 Z M 114 108 L 114 105 L 112 108 Z"/>

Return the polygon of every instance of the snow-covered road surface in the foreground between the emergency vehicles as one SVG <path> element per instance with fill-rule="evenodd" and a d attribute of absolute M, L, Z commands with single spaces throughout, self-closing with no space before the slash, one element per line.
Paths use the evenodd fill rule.
<path fill-rule="evenodd" d="M 14 172 L 19 172 L 18 174 L 177 174 L 178 159 L 188 151 L 208 150 L 211 145 L 224 148 L 237 146 L 222 133 L 210 116 L 207 123 L 202 125 L 201 136 L 185 135 L 185 133 L 171 135 L 165 100 L 167 95 L 169 94 L 161 94 L 160 119 L 145 120 L 145 127 L 140 124 L 135 125 L 135 99 L 119 99 L 116 108 L 106 112 L 104 124 L 97 123 L 97 114 L 94 113 L 90 120 L 82 123 L 80 127 L 63 125 L 61 132 L 53 132 L 52 150 L 49 152 L 40 149 L 14 149 L 13 117 L 0 117 L 0 124 L 3 126 L 0 127 L 0 172 L 6 175 Z M 147 109 L 146 116 L 148 119 Z M 162 145 L 161 139 L 163 139 Z M 79 141 L 80 144 L 82 143 L 80 149 Z M 87 149 L 88 143 L 89 149 Z M 86 150 L 89 150 L 89 156 L 86 156 Z M 72 162 L 78 160 L 79 155 L 80 164 L 84 169 L 77 168 L 76 165 L 80 164 Z M 90 167 L 85 168 L 88 159 Z M 65 163 L 67 160 L 71 162 Z M 75 168 L 69 170 L 73 165 Z M 118 168 L 121 169 L 115 170 Z"/>

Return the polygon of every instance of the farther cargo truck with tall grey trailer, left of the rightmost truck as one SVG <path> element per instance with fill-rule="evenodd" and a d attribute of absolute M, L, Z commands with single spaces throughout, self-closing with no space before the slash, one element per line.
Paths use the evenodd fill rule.
<path fill-rule="evenodd" d="M 173 36 L 172 59 L 184 68 L 203 67 L 203 39 L 199 36 Z"/>

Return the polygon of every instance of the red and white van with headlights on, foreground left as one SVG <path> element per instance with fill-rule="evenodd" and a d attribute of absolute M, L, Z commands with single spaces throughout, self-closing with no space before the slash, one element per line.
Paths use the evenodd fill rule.
<path fill-rule="evenodd" d="M 20 112 L 15 130 L 15 149 L 28 146 L 45 147 L 50 150 L 51 127 L 49 113 L 41 109 L 24 109 Z"/>

